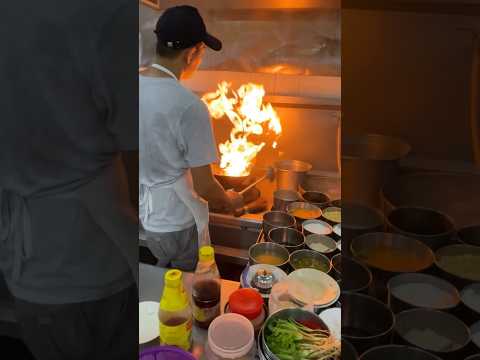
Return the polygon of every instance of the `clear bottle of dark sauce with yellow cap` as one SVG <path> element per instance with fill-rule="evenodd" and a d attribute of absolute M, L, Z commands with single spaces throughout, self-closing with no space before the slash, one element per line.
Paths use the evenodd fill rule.
<path fill-rule="evenodd" d="M 214 249 L 211 246 L 202 246 L 192 285 L 195 325 L 207 329 L 220 315 L 220 292 L 220 273 L 215 263 Z"/>

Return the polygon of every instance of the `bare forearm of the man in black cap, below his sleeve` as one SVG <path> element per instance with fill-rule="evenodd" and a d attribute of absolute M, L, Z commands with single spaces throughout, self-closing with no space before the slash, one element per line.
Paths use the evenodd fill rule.
<path fill-rule="evenodd" d="M 211 165 L 191 168 L 193 187 L 198 195 L 208 201 L 211 210 L 233 212 L 233 204 L 222 185 L 213 175 Z"/>

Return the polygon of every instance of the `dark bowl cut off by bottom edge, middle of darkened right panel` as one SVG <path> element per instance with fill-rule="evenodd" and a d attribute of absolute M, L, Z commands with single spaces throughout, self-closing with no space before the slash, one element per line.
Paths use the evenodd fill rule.
<path fill-rule="evenodd" d="M 426 351 L 404 345 L 377 346 L 362 354 L 360 360 L 442 360 Z"/>

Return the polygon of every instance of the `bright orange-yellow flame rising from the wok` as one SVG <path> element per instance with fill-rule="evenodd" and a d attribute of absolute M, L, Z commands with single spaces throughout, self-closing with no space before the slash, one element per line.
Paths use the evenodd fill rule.
<path fill-rule="evenodd" d="M 250 173 L 253 159 L 266 145 L 265 142 L 256 144 L 250 141 L 249 136 L 262 135 L 264 127 L 267 127 L 278 138 L 282 125 L 272 105 L 263 103 L 265 89 L 262 85 L 248 83 L 236 92 L 230 87 L 230 83 L 223 81 L 218 84 L 217 91 L 205 94 L 202 101 L 213 118 L 226 116 L 233 125 L 230 139 L 218 146 L 220 168 L 228 176 L 246 176 Z M 229 92 L 232 94 L 230 97 Z M 277 147 L 276 140 L 272 147 Z"/>

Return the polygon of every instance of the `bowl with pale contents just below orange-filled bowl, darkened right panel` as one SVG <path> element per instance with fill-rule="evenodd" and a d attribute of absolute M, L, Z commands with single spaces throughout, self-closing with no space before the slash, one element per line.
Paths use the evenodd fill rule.
<path fill-rule="evenodd" d="M 458 290 L 436 276 L 399 274 L 387 284 L 388 305 L 394 313 L 411 308 L 451 310 L 460 303 Z"/>

